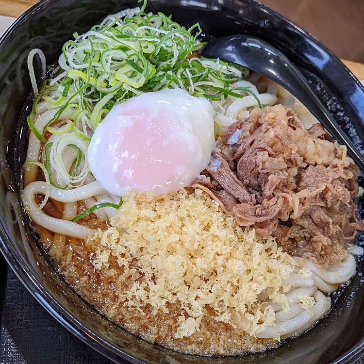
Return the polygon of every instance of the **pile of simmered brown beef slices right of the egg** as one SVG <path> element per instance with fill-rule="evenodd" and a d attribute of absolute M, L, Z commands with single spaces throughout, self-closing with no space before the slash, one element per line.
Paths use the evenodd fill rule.
<path fill-rule="evenodd" d="M 352 201 L 359 171 L 320 124 L 306 130 L 281 105 L 254 109 L 217 147 L 206 185 L 240 225 L 273 234 L 291 255 L 324 266 L 342 260 L 363 230 Z"/>

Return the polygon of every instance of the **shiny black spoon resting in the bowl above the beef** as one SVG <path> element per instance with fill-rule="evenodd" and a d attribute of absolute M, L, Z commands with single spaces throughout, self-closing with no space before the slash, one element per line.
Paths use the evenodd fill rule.
<path fill-rule="evenodd" d="M 301 101 L 340 144 L 347 147 L 350 157 L 364 171 L 364 156 L 317 98 L 297 67 L 280 50 L 261 39 L 238 34 L 212 40 L 202 50 L 202 55 L 248 67 L 281 85 Z"/>

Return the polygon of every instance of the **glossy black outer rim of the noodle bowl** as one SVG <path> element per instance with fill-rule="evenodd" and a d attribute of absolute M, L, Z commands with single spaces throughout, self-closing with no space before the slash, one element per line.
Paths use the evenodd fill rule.
<path fill-rule="evenodd" d="M 27 21 L 35 13 L 46 10 L 50 5 L 60 2 L 62 0 L 40 0 L 38 3 L 34 4 L 31 8 L 25 11 L 20 17 L 14 21 L 14 23 L 2 34 L 0 37 L 0 51 L 6 47 L 7 39 L 11 34 L 16 33 L 17 28 L 20 27 L 25 21 Z M 233 2 L 233 0 L 226 0 L 227 2 Z M 293 26 L 302 36 L 310 38 L 314 43 L 324 50 L 332 60 L 339 63 L 344 67 L 349 76 L 355 81 L 364 91 L 364 86 L 355 77 L 355 75 L 350 71 L 350 69 L 341 60 L 336 57 L 331 50 L 329 50 L 324 44 L 322 44 L 318 39 L 316 39 L 311 33 L 305 31 L 298 26 L 295 22 L 290 20 L 288 17 L 278 13 L 277 11 L 271 9 L 269 6 L 259 2 L 258 0 L 245 0 L 246 2 L 259 6 L 265 9 L 270 14 L 280 17 L 285 22 Z M 87 329 L 78 319 L 75 318 L 73 314 L 68 312 L 55 298 L 53 298 L 44 289 L 42 283 L 35 277 L 32 270 L 29 267 L 28 262 L 24 257 L 13 248 L 12 238 L 6 231 L 5 222 L 0 218 L 0 251 L 4 256 L 7 264 L 13 269 L 17 278 L 22 282 L 26 289 L 31 293 L 31 295 L 36 299 L 37 302 L 53 317 L 55 318 L 63 327 L 65 327 L 69 332 L 74 334 L 78 339 L 83 341 L 89 347 L 93 348 L 99 352 L 104 357 L 110 359 L 115 363 L 119 363 L 120 359 L 124 359 L 134 364 L 145 364 L 147 362 L 137 359 L 134 356 L 128 354 L 122 349 L 116 349 L 113 345 L 109 344 L 107 341 L 102 340 L 99 335 L 95 334 L 93 331 Z M 18 259 L 20 258 L 20 260 Z M 142 339 L 141 339 L 142 340 Z M 106 349 L 106 350 L 105 350 Z M 364 337 L 362 337 L 357 344 L 350 347 L 346 352 L 344 352 L 339 358 L 337 358 L 332 364 L 346 364 L 352 360 L 358 360 L 364 355 Z"/>

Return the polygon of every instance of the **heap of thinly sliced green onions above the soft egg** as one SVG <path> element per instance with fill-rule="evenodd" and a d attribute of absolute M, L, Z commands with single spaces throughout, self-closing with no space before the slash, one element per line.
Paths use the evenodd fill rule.
<path fill-rule="evenodd" d="M 251 90 L 231 86 L 248 75 L 246 68 L 218 59 L 190 58 L 191 52 L 205 44 L 198 41 L 201 33 L 198 23 L 186 29 L 171 16 L 145 13 L 147 0 L 139 2 L 142 2 L 140 11 L 106 18 L 82 36 L 74 33 L 75 40 L 64 44 L 59 58 L 60 71 L 52 75 L 45 96 L 46 84 L 42 84 L 28 119 L 29 128 L 42 143 L 46 143 L 44 134 L 48 131 L 61 136 L 71 134 L 82 140 L 86 148 L 91 140 L 86 134 L 86 124 L 95 129 L 115 103 L 164 88 L 180 87 L 193 96 L 210 100 L 221 100 L 228 95 L 241 98 L 238 91 L 245 91 L 261 107 Z M 43 131 L 36 131 L 33 116 L 41 97 L 59 110 Z M 76 120 L 62 128 L 50 127 L 70 107 L 72 112 L 67 118 L 74 120 L 74 107 L 77 115 L 82 115 L 82 125 L 76 116 Z M 52 155 L 52 170 L 58 173 L 61 162 Z M 77 170 L 74 168 L 73 172 L 78 174 Z M 66 175 L 63 177 L 68 180 Z M 69 181 L 74 183 L 72 176 Z"/>

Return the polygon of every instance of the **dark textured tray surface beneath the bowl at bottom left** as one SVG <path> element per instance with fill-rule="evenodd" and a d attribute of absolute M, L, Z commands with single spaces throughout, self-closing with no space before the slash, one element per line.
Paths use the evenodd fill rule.
<path fill-rule="evenodd" d="M 0 253 L 1 364 L 111 364 L 31 296 Z"/>

